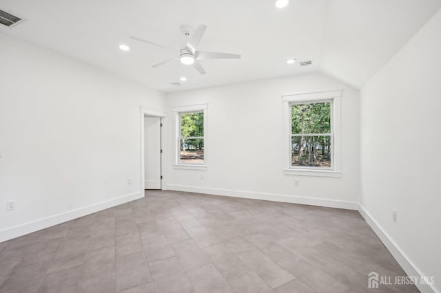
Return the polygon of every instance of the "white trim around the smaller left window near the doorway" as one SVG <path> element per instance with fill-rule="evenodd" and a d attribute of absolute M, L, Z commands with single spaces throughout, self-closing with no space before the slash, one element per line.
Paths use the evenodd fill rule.
<path fill-rule="evenodd" d="M 207 113 L 208 104 L 188 105 L 172 107 L 174 112 L 174 169 L 186 169 L 186 170 L 207 170 Z M 204 113 L 204 164 L 180 164 L 179 163 L 179 133 L 181 128 L 180 114 L 185 112 L 197 112 L 203 111 Z"/>

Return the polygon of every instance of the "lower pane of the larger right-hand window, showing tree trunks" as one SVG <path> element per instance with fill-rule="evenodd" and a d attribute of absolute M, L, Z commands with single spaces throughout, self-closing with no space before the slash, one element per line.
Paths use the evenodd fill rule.
<path fill-rule="evenodd" d="M 331 167 L 331 136 L 293 136 L 291 166 Z"/>

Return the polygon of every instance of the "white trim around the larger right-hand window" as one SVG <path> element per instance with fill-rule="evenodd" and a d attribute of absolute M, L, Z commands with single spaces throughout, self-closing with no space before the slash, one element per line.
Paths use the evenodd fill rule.
<path fill-rule="evenodd" d="M 320 91 L 307 94 L 282 96 L 283 100 L 283 173 L 285 175 L 341 177 L 341 97 L 342 90 Z M 291 166 L 291 105 L 300 102 L 331 102 L 331 169 Z"/>

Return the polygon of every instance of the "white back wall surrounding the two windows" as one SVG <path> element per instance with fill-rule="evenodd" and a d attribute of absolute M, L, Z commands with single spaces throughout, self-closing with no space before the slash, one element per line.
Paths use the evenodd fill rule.
<path fill-rule="evenodd" d="M 282 96 L 343 89 L 342 177 L 284 175 Z M 170 107 L 208 103 L 207 171 L 170 168 L 167 188 L 356 208 L 359 196 L 358 91 L 322 74 L 259 80 L 167 95 Z M 172 109 L 169 109 L 171 112 Z M 169 124 L 170 126 L 170 124 Z M 174 131 L 168 127 L 174 142 Z M 173 163 L 172 149 L 168 153 Z M 204 179 L 201 179 L 201 175 Z M 300 178 L 300 186 L 294 180 Z"/>

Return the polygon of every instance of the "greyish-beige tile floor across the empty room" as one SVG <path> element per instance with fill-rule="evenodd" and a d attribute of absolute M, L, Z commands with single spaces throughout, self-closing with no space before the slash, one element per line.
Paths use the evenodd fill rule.
<path fill-rule="evenodd" d="M 0 243 L 0 292 L 418 292 L 356 211 L 147 191 Z"/>

